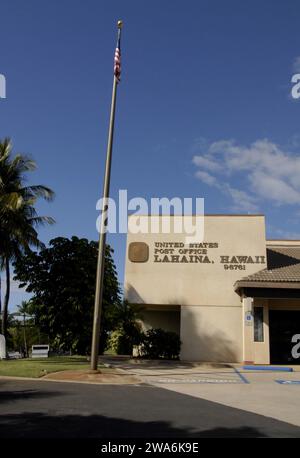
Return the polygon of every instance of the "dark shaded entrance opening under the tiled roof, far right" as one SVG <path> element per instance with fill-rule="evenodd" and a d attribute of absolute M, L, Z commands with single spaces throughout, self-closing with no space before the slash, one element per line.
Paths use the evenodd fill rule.
<path fill-rule="evenodd" d="M 270 310 L 270 360 L 271 364 L 300 364 L 292 356 L 292 337 L 300 334 L 300 311 Z"/>

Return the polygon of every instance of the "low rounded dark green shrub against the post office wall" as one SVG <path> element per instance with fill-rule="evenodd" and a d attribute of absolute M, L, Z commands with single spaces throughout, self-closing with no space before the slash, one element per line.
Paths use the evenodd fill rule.
<path fill-rule="evenodd" d="M 141 354 L 148 359 L 179 359 L 181 341 L 175 332 L 149 329 L 144 334 Z"/>

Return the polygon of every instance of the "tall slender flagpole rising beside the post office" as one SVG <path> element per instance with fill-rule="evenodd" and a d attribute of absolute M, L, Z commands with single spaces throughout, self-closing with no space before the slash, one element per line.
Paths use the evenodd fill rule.
<path fill-rule="evenodd" d="M 120 42 L 121 29 L 122 29 L 122 21 L 118 21 L 118 43 Z M 91 349 L 91 370 L 92 371 L 97 371 L 97 368 L 98 368 L 100 324 L 101 324 L 101 312 L 102 312 L 102 302 L 103 302 L 105 242 L 106 242 L 106 230 L 105 230 L 106 221 L 105 221 L 104 215 L 105 213 L 107 214 L 107 199 L 109 197 L 117 86 L 118 86 L 118 78 L 116 76 L 116 73 L 114 72 L 114 81 L 113 81 L 112 98 L 111 98 L 111 110 L 110 110 L 110 121 L 109 121 L 109 129 L 108 129 L 107 151 L 106 151 L 105 175 L 104 175 L 104 184 L 103 184 L 101 225 L 100 225 L 100 234 L 99 234 L 99 248 L 98 248 L 98 261 L 97 261 L 97 274 L 96 274 L 93 338 L 92 338 L 92 349 Z"/>

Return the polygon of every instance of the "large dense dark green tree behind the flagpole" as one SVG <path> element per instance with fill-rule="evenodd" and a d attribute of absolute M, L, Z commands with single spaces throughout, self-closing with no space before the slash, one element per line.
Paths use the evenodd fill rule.
<path fill-rule="evenodd" d="M 120 289 L 113 250 L 106 246 L 101 348 L 118 320 Z M 33 294 L 31 310 L 53 348 L 78 354 L 90 352 L 98 243 L 58 237 L 39 252 L 15 262 L 15 279 Z"/>

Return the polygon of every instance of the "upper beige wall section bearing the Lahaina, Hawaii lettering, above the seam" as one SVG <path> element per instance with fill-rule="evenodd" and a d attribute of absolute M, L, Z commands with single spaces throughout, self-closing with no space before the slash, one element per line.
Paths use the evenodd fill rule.
<path fill-rule="evenodd" d="M 131 218 L 136 218 L 133 216 Z M 151 217 L 144 217 L 149 219 Z M 149 246 L 149 260 L 131 262 L 128 251 L 125 266 L 125 295 L 130 302 L 144 304 L 240 306 L 234 283 L 266 264 L 244 264 L 245 270 L 225 270 L 221 256 L 266 256 L 263 216 L 205 216 L 204 242 L 210 263 L 154 262 L 155 242 L 184 243 L 186 234 L 131 234 L 131 242 Z M 160 255 L 163 256 L 163 255 Z"/>

